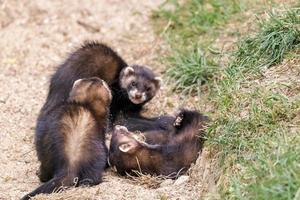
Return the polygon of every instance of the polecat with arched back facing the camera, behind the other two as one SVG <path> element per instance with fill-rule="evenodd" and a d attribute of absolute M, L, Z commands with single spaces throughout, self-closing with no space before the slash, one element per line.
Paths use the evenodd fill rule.
<path fill-rule="evenodd" d="M 112 91 L 111 121 L 120 111 L 139 113 L 160 88 L 160 78 L 147 67 L 128 66 L 110 47 L 86 42 L 66 59 L 53 74 L 49 93 L 40 117 L 47 115 L 57 104 L 66 101 L 75 80 L 99 77 Z"/>

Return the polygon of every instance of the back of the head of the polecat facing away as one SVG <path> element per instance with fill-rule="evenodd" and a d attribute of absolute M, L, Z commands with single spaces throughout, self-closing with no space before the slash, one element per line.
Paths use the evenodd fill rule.
<path fill-rule="evenodd" d="M 78 79 L 73 83 L 68 101 L 91 103 L 97 100 L 105 105 L 109 105 L 112 100 L 111 91 L 105 81 L 91 77 Z"/>

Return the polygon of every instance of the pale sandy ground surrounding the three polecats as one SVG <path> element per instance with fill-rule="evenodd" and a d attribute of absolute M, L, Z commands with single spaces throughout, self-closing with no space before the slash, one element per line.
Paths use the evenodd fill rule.
<path fill-rule="evenodd" d="M 149 65 L 157 73 L 163 72 L 158 60 L 165 47 L 153 33 L 149 18 L 151 10 L 161 3 L 0 0 L 0 199 L 19 199 L 40 184 L 33 146 L 35 122 L 49 77 L 68 52 L 84 40 L 103 41 L 128 63 Z M 190 101 L 165 87 L 148 105 L 147 114 L 171 112 L 186 102 Z M 204 151 L 187 173 L 188 180 L 163 181 L 156 189 L 107 170 L 104 182 L 98 186 L 35 199 L 200 199 L 215 190 L 213 162 Z"/>

